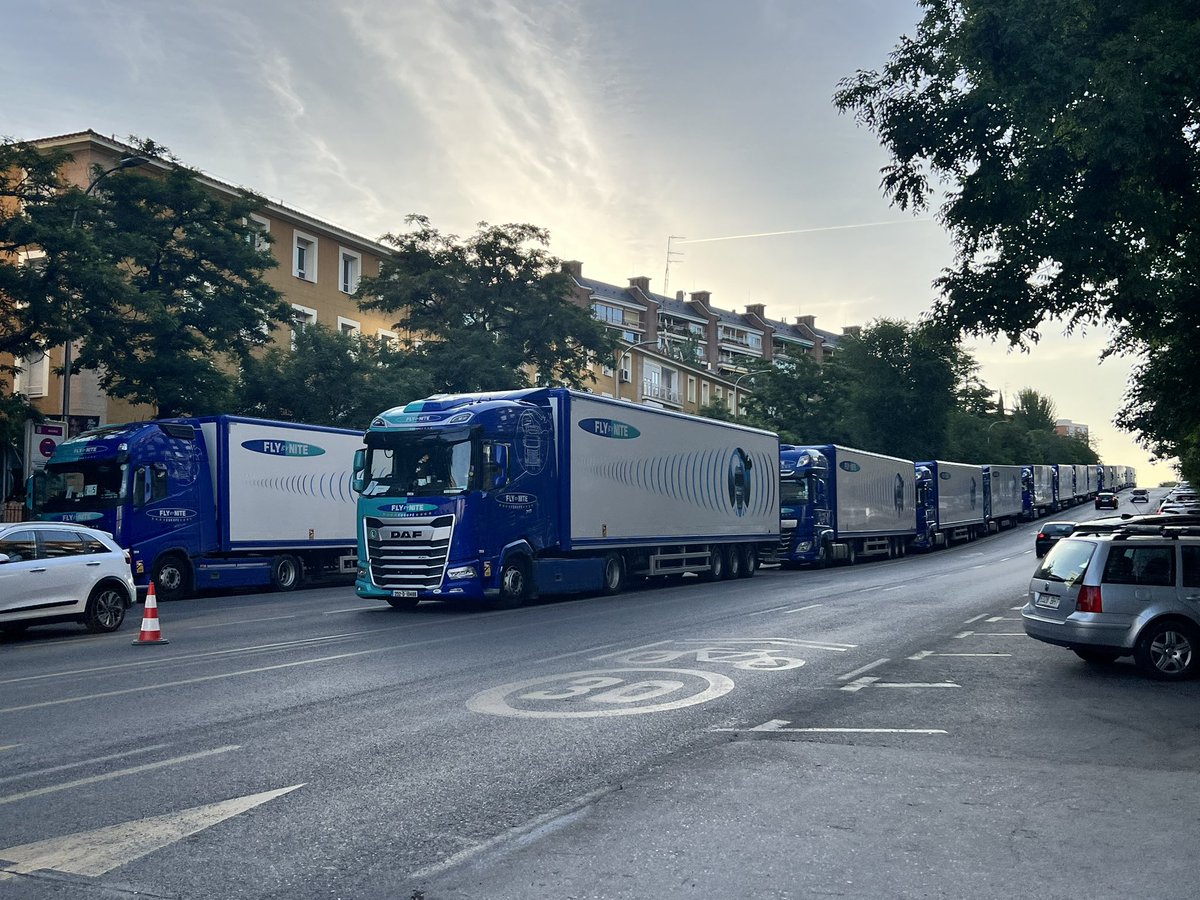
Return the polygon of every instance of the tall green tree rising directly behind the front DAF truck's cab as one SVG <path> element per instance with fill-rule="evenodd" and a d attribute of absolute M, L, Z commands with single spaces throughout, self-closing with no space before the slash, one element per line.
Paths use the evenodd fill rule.
<path fill-rule="evenodd" d="M 395 252 L 359 288 L 366 310 L 397 316 L 434 390 L 582 388 L 588 362 L 611 359 L 616 342 L 589 308 L 570 300 L 570 278 L 542 247 L 545 229 L 490 226 L 467 240 L 425 216 L 389 234 Z"/>

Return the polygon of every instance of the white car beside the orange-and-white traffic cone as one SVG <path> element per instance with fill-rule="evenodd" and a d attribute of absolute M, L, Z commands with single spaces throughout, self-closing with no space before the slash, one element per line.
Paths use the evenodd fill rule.
<path fill-rule="evenodd" d="M 130 554 L 107 533 L 66 522 L 0 526 L 0 631 L 58 622 L 115 631 L 136 599 Z"/>

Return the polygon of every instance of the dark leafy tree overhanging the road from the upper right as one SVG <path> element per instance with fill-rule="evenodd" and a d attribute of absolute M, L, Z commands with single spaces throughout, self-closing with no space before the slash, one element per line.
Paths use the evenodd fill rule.
<path fill-rule="evenodd" d="M 918 5 L 914 36 L 881 71 L 841 82 L 834 102 L 889 152 L 883 190 L 896 205 L 922 210 L 944 190 L 938 216 L 956 262 L 938 281 L 937 314 L 1013 343 L 1037 341 L 1055 318 L 1068 329 L 1110 326 L 1115 352 L 1194 343 L 1194 4 Z M 1200 395 L 1142 386 L 1135 380 L 1120 421 L 1147 445 L 1186 446 L 1200 427 Z"/>

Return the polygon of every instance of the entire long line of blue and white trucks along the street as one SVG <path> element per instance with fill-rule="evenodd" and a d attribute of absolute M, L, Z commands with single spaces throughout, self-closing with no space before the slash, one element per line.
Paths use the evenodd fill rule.
<path fill-rule="evenodd" d="M 131 552 L 161 599 L 350 575 L 396 607 L 617 593 L 971 541 L 1135 484 L 1114 466 L 780 444 L 560 388 L 434 396 L 366 433 L 217 415 L 106 426 L 35 475 L 35 517 Z"/>

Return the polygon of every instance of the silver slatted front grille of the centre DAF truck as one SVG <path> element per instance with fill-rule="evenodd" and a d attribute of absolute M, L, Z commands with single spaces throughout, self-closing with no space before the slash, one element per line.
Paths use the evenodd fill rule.
<path fill-rule="evenodd" d="M 433 590 L 442 587 L 454 516 L 374 518 L 364 522 L 371 581 L 386 590 Z"/>

